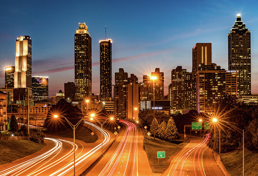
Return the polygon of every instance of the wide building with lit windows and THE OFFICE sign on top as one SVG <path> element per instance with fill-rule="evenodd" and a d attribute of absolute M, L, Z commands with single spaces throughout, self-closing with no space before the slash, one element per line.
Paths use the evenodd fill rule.
<path fill-rule="evenodd" d="M 196 73 L 197 111 L 214 114 L 214 105 L 223 97 L 235 96 L 236 71 L 223 69 L 198 70 Z"/>

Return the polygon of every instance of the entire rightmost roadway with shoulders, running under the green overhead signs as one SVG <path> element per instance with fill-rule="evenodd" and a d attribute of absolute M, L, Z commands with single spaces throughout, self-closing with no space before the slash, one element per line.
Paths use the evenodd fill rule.
<path fill-rule="evenodd" d="M 191 141 L 172 159 L 163 176 L 224 176 L 218 167 L 206 138 L 190 137 Z"/>

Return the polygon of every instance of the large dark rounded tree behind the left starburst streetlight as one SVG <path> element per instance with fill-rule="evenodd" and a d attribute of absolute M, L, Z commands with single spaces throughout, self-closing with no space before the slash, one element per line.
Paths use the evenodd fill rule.
<path fill-rule="evenodd" d="M 52 132 L 71 128 L 69 123 L 62 116 L 55 118 L 54 115 L 66 117 L 73 125 L 79 122 L 80 118 L 83 117 L 81 110 L 77 106 L 73 106 L 66 100 L 60 99 L 56 105 L 50 108 L 44 122 L 44 127 Z"/>

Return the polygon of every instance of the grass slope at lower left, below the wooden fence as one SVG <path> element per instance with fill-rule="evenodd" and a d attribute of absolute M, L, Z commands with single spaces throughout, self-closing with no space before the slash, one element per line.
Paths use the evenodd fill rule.
<path fill-rule="evenodd" d="M 45 144 L 24 140 L 0 140 L 0 165 L 40 151 Z"/>

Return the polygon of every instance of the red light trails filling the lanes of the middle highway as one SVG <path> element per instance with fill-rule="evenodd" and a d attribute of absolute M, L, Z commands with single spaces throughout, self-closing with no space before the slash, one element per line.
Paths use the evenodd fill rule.
<path fill-rule="evenodd" d="M 129 121 L 120 120 L 120 122 L 126 125 L 126 131 L 99 176 L 138 175 L 137 127 Z"/>

